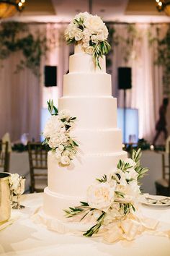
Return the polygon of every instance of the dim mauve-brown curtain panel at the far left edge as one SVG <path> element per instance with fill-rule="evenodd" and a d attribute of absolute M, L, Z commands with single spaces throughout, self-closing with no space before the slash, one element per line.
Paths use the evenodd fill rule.
<path fill-rule="evenodd" d="M 12 54 L 3 61 L 0 69 L 0 137 L 9 132 L 12 141 L 23 133 L 29 139 L 39 139 L 40 134 L 40 85 L 30 69 L 14 74 L 22 54 Z"/>

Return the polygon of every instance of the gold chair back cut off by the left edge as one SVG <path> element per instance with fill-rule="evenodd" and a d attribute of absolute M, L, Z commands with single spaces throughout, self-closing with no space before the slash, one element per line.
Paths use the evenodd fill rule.
<path fill-rule="evenodd" d="M 2 142 L 0 140 L 0 167 L 4 169 L 5 172 L 9 172 L 9 158 L 10 154 L 8 152 L 9 143 Z"/>

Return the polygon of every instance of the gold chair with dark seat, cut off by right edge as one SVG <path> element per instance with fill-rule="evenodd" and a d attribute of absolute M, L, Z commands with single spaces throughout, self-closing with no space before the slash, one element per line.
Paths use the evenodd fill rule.
<path fill-rule="evenodd" d="M 166 155 L 168 155 L 168 163 L 166 163 Z M 169 153 L 162 154 L 162 179 L 156 181 L 156 195 L 170 196 L 170 142 Z"/>

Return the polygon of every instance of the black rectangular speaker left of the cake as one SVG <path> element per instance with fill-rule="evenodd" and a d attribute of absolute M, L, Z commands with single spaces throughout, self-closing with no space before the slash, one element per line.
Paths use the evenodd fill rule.
<path fill-rule="evenodd" d="M 57 86 L 57 67 L 45 66 L 45 87 Z"/>

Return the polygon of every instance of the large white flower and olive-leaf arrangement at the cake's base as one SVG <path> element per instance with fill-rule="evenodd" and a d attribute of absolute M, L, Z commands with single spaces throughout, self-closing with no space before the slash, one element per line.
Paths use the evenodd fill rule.
<path fill-rule="evenodd" d="M 68 218 L 76 218 L 76 221 L 87 218 L 88 221 L 96 222 L 84 236 L 92 236 L 107 229 L 111 232 L 112 223 L 118 223 L 135 212 L 140 196 L 139 179 L 148 171 L 148 168 L 140 166 L 140 156 L 140 149 L 133 150 L 132 159 L 120 160 L 115 170 L 91 184 L 87 189 L 87 202 L 64 210 Z M 117 232 L 123 236 L 123 229 L 119 225 Z"/>

